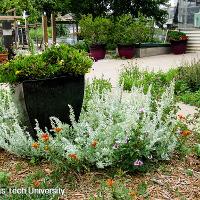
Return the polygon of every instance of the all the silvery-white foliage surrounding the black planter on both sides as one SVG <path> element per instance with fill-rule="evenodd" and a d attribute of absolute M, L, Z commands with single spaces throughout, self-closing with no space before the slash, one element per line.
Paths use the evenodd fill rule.
<path fill-rule="evenodd" d="M 41 139 L 43 132 L 37 122 L 35 129 L 39 147 L 34 149 L 31 147 L 34 141 L 17 120 L 18 113 L 10 99 L 10 91 L 1 89 L 1 99 L 4 100 L 0 105 L 0 147 L 17 155 L 53 159 L 55 156 L 67 162 L 74 162 L 70 155 L 76 155 L 79 162 L 105 168 L 117 162 L 114 156 L 116 150 L 136 134 L 135 130 L 139 130 L 137 139 L 145 145 L 144 152 L 138 153 L 139 149 L 132 149 L 133 154 L 146 159 L 170 159 L 177 145 L 174 84 L 166 89 L 158 101 L 152 99 L 150 90 L 144 94 L 142 88 L 133 88 L 130 93 L 117 90 L 104 91 L 101 95 L 94 91 L 87 103 L 87 110 L 82 111 L 78 122 L 71 107 L 71 126 L 55 117 L 50 118 L 52 130 L 59 127 L 62 131 L 54 138 L 49 134 L 46 143 Z M 45 151 L 47 145 L 48 151 Z"/>

